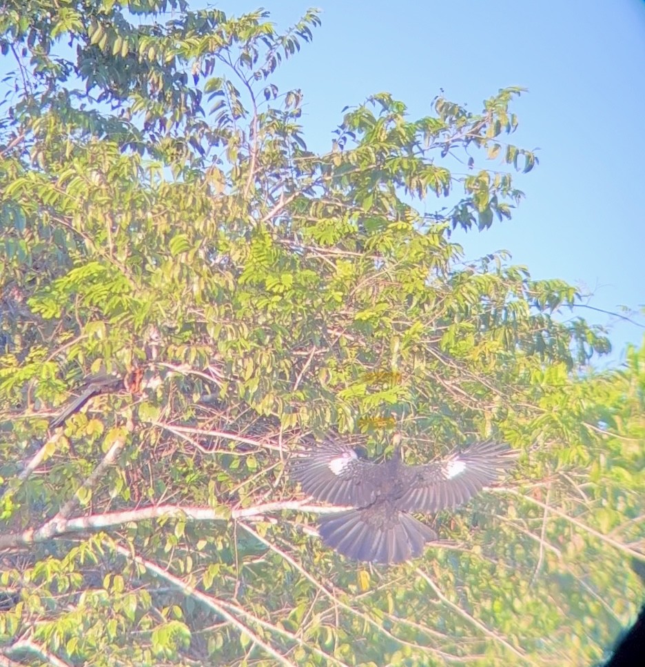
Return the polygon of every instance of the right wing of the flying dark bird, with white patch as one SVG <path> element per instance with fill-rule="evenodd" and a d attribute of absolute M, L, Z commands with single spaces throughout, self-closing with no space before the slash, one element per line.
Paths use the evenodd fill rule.
<path fill-rule="evenodd" d="M 496 481 L 500 471 L 513 464 L 514 454 L 504 444 L 482 442 L 431 464 L 403 466 L 402 482 L 408 490 L 396 505 L 408 512 L 438 512 L 461 505 Z"/>

